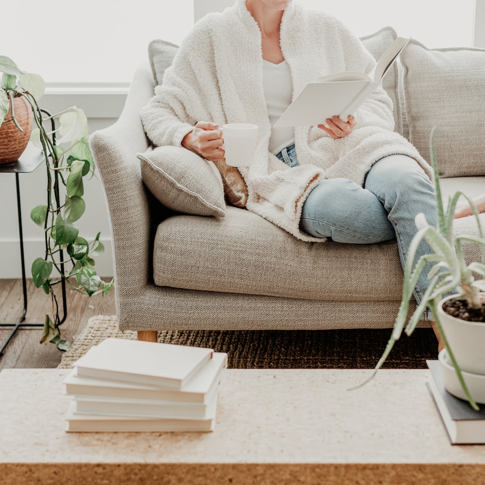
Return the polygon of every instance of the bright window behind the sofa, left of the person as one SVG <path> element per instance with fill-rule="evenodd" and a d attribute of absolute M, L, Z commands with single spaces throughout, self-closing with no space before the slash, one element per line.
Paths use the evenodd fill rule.
<path fill-rule="evenodd" d="M 2 15 L 0 54 L 49 84 L 129 83 L 151 40 L 180 44 L 194 24 L 193 2 L 10 2 L 2 9 L 9 19 Z"/>

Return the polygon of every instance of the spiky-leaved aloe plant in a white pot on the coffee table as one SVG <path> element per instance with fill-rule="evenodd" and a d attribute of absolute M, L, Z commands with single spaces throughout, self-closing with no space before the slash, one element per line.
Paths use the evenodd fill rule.
<path fill-rule="evenodd" d="M 414 267 L 412 264 L 405 265 L 403 299 L 394 323 L 394 329 L 370 379 L 388 357 L 394 343 L 400 338 L 404 326 L 405 333 L 411 335 L 417 323 L 420 322 L 424 311 L 429 308 L 435 318 L 433 327 L 441 340 L 440 346 L 443 346 L 446 350 L 463 396 L 468 399 L 474 409 L 478 409 L 464 380 L 463 372 L 485 375 L 485 360 L 483 358 L 485 348 L 485 239 L 478 211 L 466 194 L 461 192 L 454 194 L 449 200 L 446 210 L 444 210 L 433 144 L 435 128 L 432 129 L 430 135 L 430 153 L 436 187 L 438 226 L 430 226 L 422 213 L 416 216 L 415 223 L 418 232 L 409 246 L 407 260 L 415 260 L 418 245 L 422 240 L 429 244 L 432 253 L 422 256 Z M 465 197 L 472 207 L 479 237 L 469 234 L 453 237 L 454 210 L 461 196 Z M 464 243 L 480 246 L 482 262 L 467 264 L 463 252 Z M 435 263 L 433 269 L 427 275 L 430 283 L 420 305 L 407 322 L 409 302 L 427 262 Z M 470 331 L 472 333 L 469 336 Z M 442 365 L 444 356 L 445 353 L 441 351 L 439 360 Z M 447 389 L 450 390 L 448 386 Z"/>

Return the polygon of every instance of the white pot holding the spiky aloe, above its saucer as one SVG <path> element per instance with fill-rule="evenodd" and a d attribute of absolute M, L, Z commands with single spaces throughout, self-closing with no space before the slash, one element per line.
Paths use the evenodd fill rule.
<path fill-rule="evenodd" d="M 443 298 L 437 308 L 446 339 L 461 371 L 485 375 L 485 323 L 467 322 L 448 315 L 442 305 L 453 298 L 460 296 Z M 485 299 L 485 293 L 482 298 Z"/>

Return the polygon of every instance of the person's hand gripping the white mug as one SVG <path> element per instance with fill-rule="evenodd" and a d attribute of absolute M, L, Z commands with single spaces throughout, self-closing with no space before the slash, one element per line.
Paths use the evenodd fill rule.
<path fill-rule="evenodd" d="M 224 145 L 222 129 L 210 121 L 198 121 L 194 129 L 183 137 L 181 145 L 210 162 L 226 156 L 221 148 Z"/>

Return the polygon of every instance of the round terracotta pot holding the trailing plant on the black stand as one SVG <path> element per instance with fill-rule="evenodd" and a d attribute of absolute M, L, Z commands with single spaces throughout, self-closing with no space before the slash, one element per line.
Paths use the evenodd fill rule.
<path fill-rule="evenodd" d="M 25 150 L 32 133 L 32 108 L 23 97 L 14 98 L 14 113 L 23 133 L 16 127 L 8 110 L 5 120 L 0 126 L 0 163 L 15 162 Z"/>

